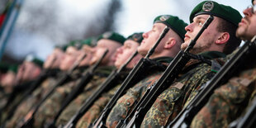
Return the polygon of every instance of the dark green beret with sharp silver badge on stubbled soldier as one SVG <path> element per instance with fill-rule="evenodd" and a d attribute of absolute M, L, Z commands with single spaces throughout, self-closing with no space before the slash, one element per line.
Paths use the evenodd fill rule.
<path fill-rule="evenodd" d="M 193 21 L 193 18 L 201 15 L 208 14 L 216 17 L 220 17 L 226 21 L 230 21 L 235 26 L 238 26 L 239 22 L 242 19 L 240 13 L 235 10 L 233 7 L 225 6 L 213 1 L 204 1 L 201 2 L 195 7 L 189 17 L 190 22 Z"/>

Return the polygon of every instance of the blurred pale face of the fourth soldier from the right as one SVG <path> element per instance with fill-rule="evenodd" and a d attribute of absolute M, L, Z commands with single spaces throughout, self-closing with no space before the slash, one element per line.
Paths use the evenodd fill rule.
<path fill-rule="evenodd" d="M 126 40 L 125 44 L 116 50 L 115 66 L 117 69 L 121 68 L 121 65 L 126 63 L 126 60 L 135 53 L 138 46 L 139 43 L 134 40 Z"/>

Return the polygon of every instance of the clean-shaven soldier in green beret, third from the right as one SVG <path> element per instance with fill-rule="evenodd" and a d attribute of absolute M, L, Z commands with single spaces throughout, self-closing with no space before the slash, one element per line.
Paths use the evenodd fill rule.
<path fill-rule="evenodd" d="M 165 26 L 171 29 L 166 36 L 164 36 L 163 40 L 160 41 L 153 55 L 150 56 L 150 59 L 168 64 L 173 57 L 178 54 L 185 35 L 184 27 L 187 26 L 187 24 L 178 17 L 163 15 L 156 17 L 152 30 L 143 34 L 144 40 L 142 40 L 138 48 L 140 55 L 145 56 L 147 54 L 158 40 Z M 148 76 L 146 78 L 136 83 L 133 88 L 130 88 L 126 94 L 116 102 L 115 107 L 112 108 L 110 114 L 107 116 L 108 127 L 115 127 L 118 121 L 128 116 L 129 111 L 135 106 L 135 102 L 140 100 L 145 89 L 158 80 L 162 72 L 159 70 L 149 70 L 147 73 Z"/>

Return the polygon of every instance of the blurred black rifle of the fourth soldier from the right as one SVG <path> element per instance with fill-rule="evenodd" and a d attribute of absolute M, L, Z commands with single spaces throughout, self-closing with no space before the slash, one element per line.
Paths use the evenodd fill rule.
<path fill-rule="evenodd" d="M 80 107 L 78 112 L 69 120 L 68 124 L 66 125 L 67 127 L 76 126 L 76 123 L 83 116 L 83 114 L 88 111 L 90 107 L 92 107 L 93 102 L 101 97 L 103 92 L 107 92 L 116 86 L 117 81 L 121 78 L 121 71 L 126 69 L 126 65 L 129 64 L 131 59 L 133 59 L 137 54 L 138 52 L 136 51 L 130 56 L 130 59 L 127 59 L 126 63 L 123 64 L 120 69 L 112 71 L 112 73 L 107 77 L 107 80 L 100 86 L 101 88 L 99 88 L 91 97 L 89 97 L 86 102 L 83 103 L 83 106 Z"/>

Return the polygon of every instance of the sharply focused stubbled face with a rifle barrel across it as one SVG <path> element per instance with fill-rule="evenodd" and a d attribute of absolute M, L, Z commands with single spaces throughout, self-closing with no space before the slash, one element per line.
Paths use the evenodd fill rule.
<path fill-rule="evenodd" d="M 201 30 L 204 22 L 207 20 L 209 15 L 198 15 L 193 18 L 193 22 L 185 27 L 187 31 L 184 43 L 182 44 L 182 50 L 187 48 L 187 45 L 193 40 L 197 33 Z M 198 54 L 211 49 L 211 45 L 215 43 L 215 40 L 219 36 L 219 32 L 217 31 L 218 17 L 215 17 L 211 24 L 207 27 L 207 29 L 201 34 L 201 36 L 197 40 L 197 44 L 190 51 L 193 54 Z"/>

